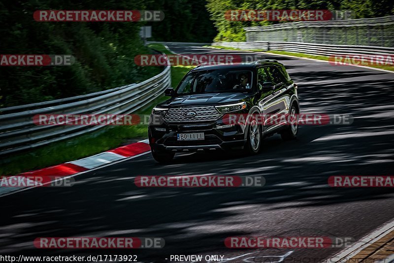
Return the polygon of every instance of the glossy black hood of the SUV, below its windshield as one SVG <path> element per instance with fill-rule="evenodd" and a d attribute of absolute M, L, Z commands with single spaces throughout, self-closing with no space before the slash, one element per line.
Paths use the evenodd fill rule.
<path fill-rule="evenodd" d="M 251 97 L 251 94 L 244 93 L 209 93 L 209 94 L 194 94 L 173 97 L 161 103 L 160 106 L 181 107 L 181 106 L 202 106 L 202 105 L 217 105 L 224 103 L 235 103 L 240 100 Z"/>

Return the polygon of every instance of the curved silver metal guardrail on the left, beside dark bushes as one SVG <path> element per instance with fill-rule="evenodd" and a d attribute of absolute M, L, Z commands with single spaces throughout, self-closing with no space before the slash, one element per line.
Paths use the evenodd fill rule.
<path fill-rule="evenodd" d="M 66 99 L 0 108 L 0 156 L 93 132 L 105 126 L 37 126 L 36 114 L 129 114 L 142 109 L 171 83 L 171 67 L 138 84 Z"/>

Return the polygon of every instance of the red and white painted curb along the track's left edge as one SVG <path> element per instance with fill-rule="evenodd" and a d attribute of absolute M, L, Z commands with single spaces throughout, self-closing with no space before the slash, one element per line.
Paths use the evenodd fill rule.
<path fill-rule="evenodd" d="M 78 173 L 89 171 L 92 169 L 99 168 L 101 166 L 107 166 L 109 164 L 119 163 L 126 159 L 136 157 L 145 153 L 150 152 L 151 148 L 149 146 L 148 139 L 139 142 L 131 143 L 129 145 L 121 146 L 112 150 L 108 150 L 103 153 L 99 153 L 90 157 L 86 157 L 80 160 L 67 162 L 65 164 L 57 164 L 54 166 L 33 170 L 29 172 L 24 172 L 18 175 L 9 176 L 2 178 L 0 181 L 0 196 L 8 195 L 15 192 L 20 192 L 28 188 L 34 188 L 39 183 L 35 183 L 27 177 L 42 177 L 44 178 L 41 184 L 51 183 L 53 179 L 48 179 L 45 181 L 45 177 L 70 177 L 75 176 Z M 3 181 L 5 180 L 5 181 Z M 10 186 L 10 182 L 25 182 L 21 185 L 29 185 L 28 187 L 23 186 Z"/>

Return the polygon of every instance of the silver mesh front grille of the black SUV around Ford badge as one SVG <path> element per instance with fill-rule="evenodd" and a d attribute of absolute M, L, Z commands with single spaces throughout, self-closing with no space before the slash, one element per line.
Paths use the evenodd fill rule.
<path fill-rule="evenodd" d="M 194 112 L 196 116 L 188 117 L 185 113 Z M 184 108 L 170 108 L 164 115 L 164 120 L 168 123 L 179 122 L 201 122 L 201 121 L 217 121 L 222 114 L 220 114 L 214 106 L 206 107 L 184 107 Z"/>

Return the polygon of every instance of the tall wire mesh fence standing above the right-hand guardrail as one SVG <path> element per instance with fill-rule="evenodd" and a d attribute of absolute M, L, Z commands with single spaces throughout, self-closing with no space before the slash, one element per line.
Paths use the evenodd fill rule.
<path fill-rule="evenodd" d="M 394 16 L 343 21 L 301 21 L 244 28 L 247 42 L 301 42 L 394 47 Z"/>

